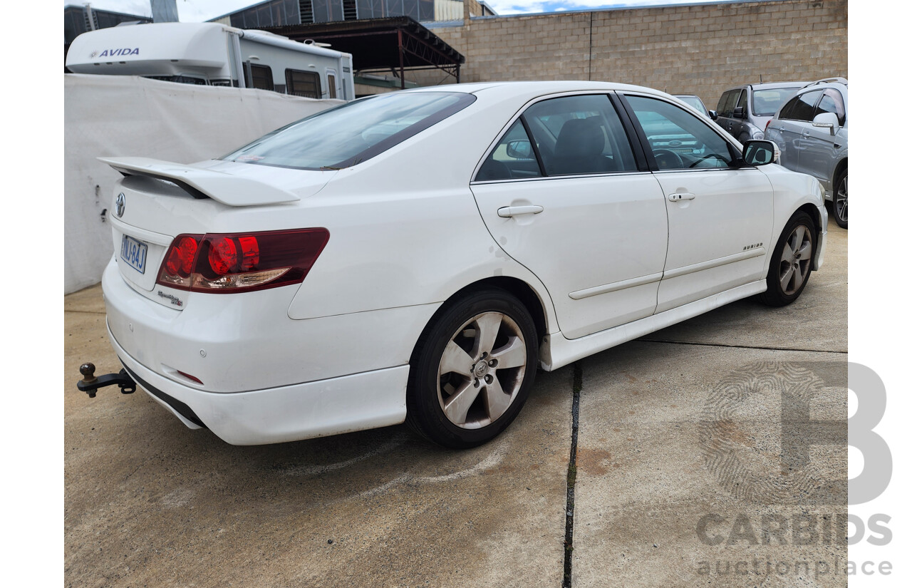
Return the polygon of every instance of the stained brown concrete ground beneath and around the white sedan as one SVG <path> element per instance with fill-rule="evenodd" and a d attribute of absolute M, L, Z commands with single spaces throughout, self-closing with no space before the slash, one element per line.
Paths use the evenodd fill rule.
<path fill-rule="evenodd" d="M 89 399 L 79 364 L 119 365 L 98 286 L 70 294 L 67 586 L 845 586 L 847 449 L 825 439 L 845 435 L 848 233 L 829 231 L 795 304 L 540 372 L 461 452 L 404 427 L 233 447 L 141 391 Z"/>

